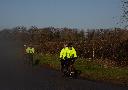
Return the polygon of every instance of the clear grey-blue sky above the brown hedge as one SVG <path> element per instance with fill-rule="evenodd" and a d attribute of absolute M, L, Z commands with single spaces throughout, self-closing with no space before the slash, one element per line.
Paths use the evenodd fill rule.
<path fill-rule="evenodd" d="M 120 0 L 0 0 L 0 28 L 111 28 L 120 5 Z"/>

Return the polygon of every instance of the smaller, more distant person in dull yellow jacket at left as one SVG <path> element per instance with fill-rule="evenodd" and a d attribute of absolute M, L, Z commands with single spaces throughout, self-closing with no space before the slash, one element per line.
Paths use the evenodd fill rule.
<path fill-rule="evenodd" d="M 33 65 L 33 55 L 35 53 L 35 49 L 32 47 L 32 45 L 30 45 L 26 48 L 26 53 L 27 53 L 27 56 L 29 59 L 29 64 L 32 63 L 32 65 Z"/>

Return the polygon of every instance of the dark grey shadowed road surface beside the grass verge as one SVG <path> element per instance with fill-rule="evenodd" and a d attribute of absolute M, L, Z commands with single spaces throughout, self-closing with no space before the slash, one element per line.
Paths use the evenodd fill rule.
<path fill-rule="evenodd" d="M 128 87 L 81 79 L 64 79 L 46 68 L 23 63 L 21 44 L 0 39 L 0 90 L 128 90 Z"/>

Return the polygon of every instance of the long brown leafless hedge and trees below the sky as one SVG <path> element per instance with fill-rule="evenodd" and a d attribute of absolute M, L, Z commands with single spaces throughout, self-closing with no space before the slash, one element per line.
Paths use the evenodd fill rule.
<path fill-rule="evenodd" d="M 59 54 L 66 42 L 72 42 L 77 54 L 82 58 L 109 59 L 119 65 L 128 65 L 128 30 L 114 29 L 71 29 L 37 28 L 35 26 L 6 29 L 0 35 L 32 43 L 38 53 Z"/>

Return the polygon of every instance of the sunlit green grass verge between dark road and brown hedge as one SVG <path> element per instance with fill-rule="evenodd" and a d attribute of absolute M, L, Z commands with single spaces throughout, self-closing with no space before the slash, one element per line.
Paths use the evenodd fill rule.
<path fill-rule="evenodd" d="M 60 69 L 59 55 L 42 54 L 36 58 L 41 60 L 41 64 L 48 64 L 51 68 Z M 91 80 L 104 80 L 115 83 L 128 84 L 128 67 L 109 67 L 98 64 L 95 61 L 78 58 L 75 67 L 82 71 L 81 76 Z"/>

